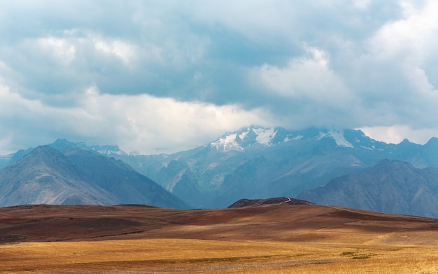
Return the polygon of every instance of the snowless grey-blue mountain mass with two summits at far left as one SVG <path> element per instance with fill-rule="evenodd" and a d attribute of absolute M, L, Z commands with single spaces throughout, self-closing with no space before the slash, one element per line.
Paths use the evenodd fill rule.
<path fill-rule="evenodd" d="M 120 160 L 82 149 L 38 146 L 0 170 L 0 206 L 146 204 L 187 207 Z"/>

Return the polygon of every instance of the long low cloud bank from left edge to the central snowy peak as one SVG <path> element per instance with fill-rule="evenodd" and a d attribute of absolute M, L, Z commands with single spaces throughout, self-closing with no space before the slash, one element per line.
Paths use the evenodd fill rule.
<path fill-rule="evenodd" d="M 0 139 L 8 151 L 0 152 L 66 137 L 88 144 L 118 144 L 126 151 L 171 153 L 206 144 L 253 122 L 272 123 L 263 109 L 245 111 L 237 105 L 218 107 L 151 95 L 105 95 L 95 86 L 76 97 L 74 107 L 52 107 L 2 86 L 0 125 L 5 128 L 0 129 L 9 133 Z"/>

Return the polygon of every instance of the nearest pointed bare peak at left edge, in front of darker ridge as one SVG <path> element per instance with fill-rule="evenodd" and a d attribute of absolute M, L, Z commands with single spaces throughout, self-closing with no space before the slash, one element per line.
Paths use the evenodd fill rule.
<path fill-rule="evenodd" d="M 0 170 L 0 181 L 2 207 L 31 203 L 102 205 L 113 198 L 87 181 L 76 165 L 50 146 L 38 146 Z"/>

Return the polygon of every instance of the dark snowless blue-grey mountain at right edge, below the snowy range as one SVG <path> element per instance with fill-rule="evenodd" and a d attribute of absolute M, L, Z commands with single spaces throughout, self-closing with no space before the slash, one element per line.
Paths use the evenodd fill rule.
<path fill-rule="evenodd" d="M 438 217 L 438 168 L 382 160 L 358 174 L 332 179 L 298 198 L 386 213 Z"/>

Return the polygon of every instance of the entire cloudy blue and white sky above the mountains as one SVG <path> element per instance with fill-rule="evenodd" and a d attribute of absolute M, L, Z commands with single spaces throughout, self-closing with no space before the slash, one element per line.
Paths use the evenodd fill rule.
<path fill-rule="evenodd" d="M 435 0 L 0 0 L 0 154 L 250 125 L 438 136 Z"/>

